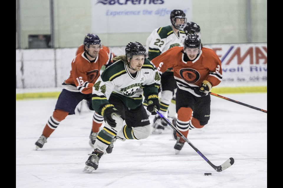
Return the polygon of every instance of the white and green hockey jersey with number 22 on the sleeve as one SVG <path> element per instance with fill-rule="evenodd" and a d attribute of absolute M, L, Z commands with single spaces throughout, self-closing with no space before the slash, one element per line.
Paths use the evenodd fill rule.
<path fill-rule="evenodd" d="M 149 60 L 174 46 L 184 46 L 186 34 L 179 30 L 179 35 L 174 32 L 171 25 L 154 29 L 146 41 Z"/>

